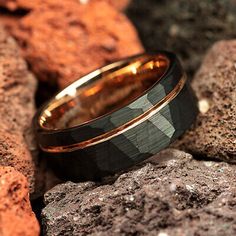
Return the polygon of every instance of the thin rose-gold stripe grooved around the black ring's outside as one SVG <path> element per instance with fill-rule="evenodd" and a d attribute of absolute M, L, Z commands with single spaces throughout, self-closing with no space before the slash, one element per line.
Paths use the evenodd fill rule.
<path fill-rule="evenodd" d="M 167 94 L 161 101 L 159 101 L 156 105 L 154 105 L 152 108 L 147 110 L 142 115 L 134 118 L 133 120 L 130 120 L 129 122 L 125 123 L 124 125 L 121 125 L 111 131 L 108 131 L 104 134 L 101 134 L 97 137 L 94 137 L 92 139 L 89 139 L 87 141 L 83 141 L 80 143 L 65 145 L 65 146 L 49 146 L 49 147 L 42 147 L 40 145 L 40 148 L 43 151 L 50 152 L 50 153 L 61 153 L 61 152 L 73 152 L 79 149 L 83 149 L 86 147 L 90 147 L 99 143 L 102 143 L 104 141 L 110 140 L 124 132 L 126 132 L 129 129 L 134 128 L 135 126 L 139 125 L 140 123 L 144 122 L 151 116 L 155 115 L 157 112 L 159 112 L 164 106 L 166 106 L 169 102 L 171 102 L 182 90 L 182 88 L 185 85 L 185 82 L 187 80 L 186 74 L 182 76 L 178 84 L 174 87 L 174 89 Z"/>

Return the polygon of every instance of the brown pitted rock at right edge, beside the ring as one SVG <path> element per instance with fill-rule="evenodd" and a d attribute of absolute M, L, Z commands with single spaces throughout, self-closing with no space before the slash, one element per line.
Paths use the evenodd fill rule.
<path fill-rule="evenodd" d="M 174 146 L 195 155 L 236 162 L 236 40 L 208 52 L 193 80 L 200 114 Z"/>

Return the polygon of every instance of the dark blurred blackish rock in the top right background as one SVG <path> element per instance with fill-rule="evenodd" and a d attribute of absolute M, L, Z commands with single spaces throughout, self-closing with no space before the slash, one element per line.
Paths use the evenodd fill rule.
<path fill-rule="evenodd" d="M 174 51 L 191 75 L 213 42 L 236 37 L 235 0 L 133 0 L 127 14 L 147 50 Z"/>

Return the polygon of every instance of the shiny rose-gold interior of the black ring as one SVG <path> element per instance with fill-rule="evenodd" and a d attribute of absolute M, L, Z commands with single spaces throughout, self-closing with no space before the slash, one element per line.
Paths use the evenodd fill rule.
<path fill-rule="evenodd" d="M 114 112 L 154 86 L 169 64 L 165 55 L 142 55 L 96 70 L 55 96 L 39 124 L 49 130 L 66 129 Z"/>

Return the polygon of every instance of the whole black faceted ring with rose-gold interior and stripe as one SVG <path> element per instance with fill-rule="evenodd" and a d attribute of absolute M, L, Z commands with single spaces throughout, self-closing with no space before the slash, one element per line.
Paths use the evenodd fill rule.
<path fill-rule="evenodd" d="M 193 123 L 196 97 L 177 57 L 129 57 L 78 79 L 35 115 L 39 147 L 59 173 L 96 179 L 169 146 Z"/>

